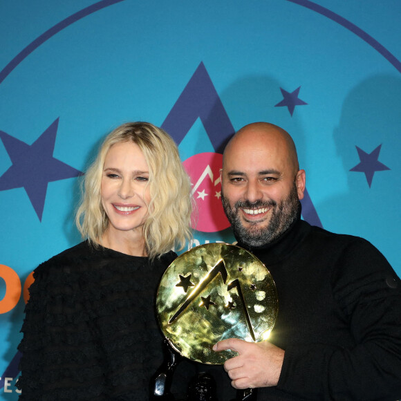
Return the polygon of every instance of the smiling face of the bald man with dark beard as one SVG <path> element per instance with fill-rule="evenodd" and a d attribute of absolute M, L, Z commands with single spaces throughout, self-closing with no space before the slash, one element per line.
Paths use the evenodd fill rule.
<path fill-rule="evenodd" d="M 297 217 L 304 178 L 280 138 L 234 142 L 225 153 L 221 198 L 236 238 L 255 247 L 285 232 Z"/>

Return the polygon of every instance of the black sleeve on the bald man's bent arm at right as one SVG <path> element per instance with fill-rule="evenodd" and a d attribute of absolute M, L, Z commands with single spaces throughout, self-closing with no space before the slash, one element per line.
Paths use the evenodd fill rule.
<path fill-rule="evenodd" d="M 356 345 L 289 346 L 278 387 L 308 400 L 399 400 L 400 279 L 373 245 L 355 239 L 335 262 L 332 288 Z"/>

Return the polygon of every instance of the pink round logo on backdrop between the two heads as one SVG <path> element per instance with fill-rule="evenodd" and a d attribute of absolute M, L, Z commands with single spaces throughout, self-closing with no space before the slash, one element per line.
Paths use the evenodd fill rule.
<path fill-rule="evenodd" d="M 220 169 L 223 155 L 198 153 L 183 163 L 192 183 L 192 194 L 198 207 L 198 218 L 192 228 L 202 232 L 216 232 L 230 227 L 221 205 Z"/>

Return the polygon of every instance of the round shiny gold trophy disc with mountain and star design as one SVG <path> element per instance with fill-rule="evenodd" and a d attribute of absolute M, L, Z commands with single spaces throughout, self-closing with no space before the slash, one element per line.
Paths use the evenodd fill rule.
<path fill-rule="evenodd" d="M 223 364 L 236 353 L 216 353 L 216 342 L 268 339 L 277 317 L 277 290 L 269 270 L 253 254 L 236 245 L 208 243 L 169 265 L 156 309 L 163 334 L 180 355 Z"/>

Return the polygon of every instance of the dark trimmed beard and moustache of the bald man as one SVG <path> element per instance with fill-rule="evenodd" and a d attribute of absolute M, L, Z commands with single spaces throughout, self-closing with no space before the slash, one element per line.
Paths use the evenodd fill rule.
<path fill-rule="evenodd" d="M 297 218 L 300 207 L 297 187 L 295 184 L 288 197 L 278 205 L 275 201 L 256 201 L 254 203 L 250 203 L 249 201 L 238 201 L 233 207 L 231 207 L 229 201 L 223 194 L 223 190 L 221 191 L 221 201 L 223 203 L 225 215 L 232 226 L 235 238 L 252 248 L 268 244 L 288 230 L 288 227 L 290 227 L 291 223 Z M 268 225 L 259 228 L 258 223 L 250 222 L 248 223 L 248 227 L 244 227 L 241 223 L 241 218 L 239 217 L 240 207 L 245 207 L 245 209 L 272 207 L 272 210 L 270 211 L 272 216 Z"/>

